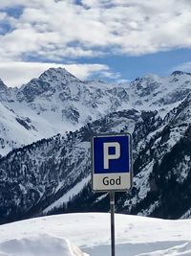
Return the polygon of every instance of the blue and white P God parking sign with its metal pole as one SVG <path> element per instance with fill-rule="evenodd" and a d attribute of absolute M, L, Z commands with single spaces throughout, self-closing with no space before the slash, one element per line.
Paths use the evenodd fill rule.
<path fill-rule="evenodd" d="M 97 135 L 92 140 L 92 184 L 110 193 L 111 247 L 115 256 L 115 192 L 132 187 L 132 138 L 129 133 Z"/>

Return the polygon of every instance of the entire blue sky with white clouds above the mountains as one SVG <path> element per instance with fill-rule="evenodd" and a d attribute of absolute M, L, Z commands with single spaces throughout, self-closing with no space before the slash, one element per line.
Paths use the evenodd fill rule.
<path fill-rule="evenodd" d="M 191 71 L 190 0 L 1 0 L 0 79 L 50 67 L 113 83 Z"/>

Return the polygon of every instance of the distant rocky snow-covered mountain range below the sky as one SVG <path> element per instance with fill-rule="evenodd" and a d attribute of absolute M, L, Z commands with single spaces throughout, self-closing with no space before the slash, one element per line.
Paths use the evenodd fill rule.
<path fill-rule="evenodd" d="M 123 109 L 158 110 L 164 116 L 191 91 L 191 75 L 149 75 L 126 84 L 80 81 L 62 68 L 51 68 L 20 89 L 0 81 L 0 154 L 81 128 Z M 8 116 L 8 117 L 7 117 Z"/>

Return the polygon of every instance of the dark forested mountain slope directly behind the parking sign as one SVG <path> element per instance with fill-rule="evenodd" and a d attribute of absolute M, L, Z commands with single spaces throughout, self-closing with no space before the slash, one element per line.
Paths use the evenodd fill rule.
<path fill-rule="evenodd" d="M 134 141 L 134 187 L 117 194 L 117 211 L 181 218 L 191 208 L 190 99 L 164 119 L 157 111 L 113 112 L 74 132 L 11 151 L 0 160 L 0 220 L 108 211 L 106 195 L 91 189 L 90 141 L 94 134 L 114 131 L 130 131 Z"/>

